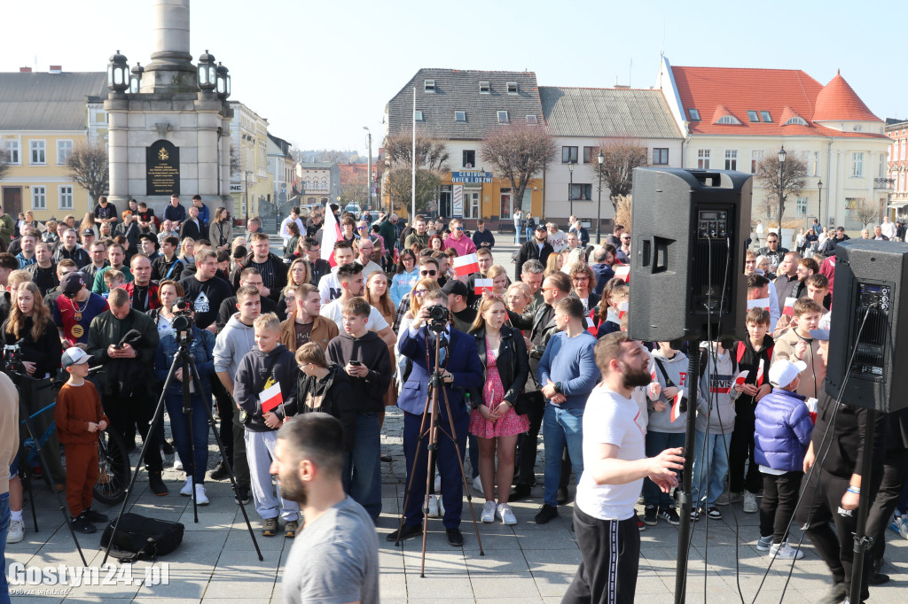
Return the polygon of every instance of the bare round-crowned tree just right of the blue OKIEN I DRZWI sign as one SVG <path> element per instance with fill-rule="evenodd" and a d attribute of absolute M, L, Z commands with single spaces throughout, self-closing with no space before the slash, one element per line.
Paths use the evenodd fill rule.
<path fill-rule="evenodd" d="M 510 181 L 514 209 L 520 209 L 529 180 L 555 160 L 558 148 L 545 127 L 512 123 L 499 126 L 482 141 L 480 155 Z M 508 218 L 508 217 L 502 217 Z"/>

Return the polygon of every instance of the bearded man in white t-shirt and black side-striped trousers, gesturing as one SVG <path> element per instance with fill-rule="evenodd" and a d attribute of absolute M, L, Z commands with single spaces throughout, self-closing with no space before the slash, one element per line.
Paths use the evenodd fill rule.
<path fill-rule="evenodd" d="M 634 504 L 647 476 L 667 492 L 684 468 L 681 448 L 646 457 L 643 412 L 631 399 L 648 385 L 649 355 L 624 332 L 596 345 L 602 373 L 583 414 L 583 475 L 577 484 L 574 530 L 582 560 L 564 602 L 631 604 L 637 589 L 640 531 Z"/>

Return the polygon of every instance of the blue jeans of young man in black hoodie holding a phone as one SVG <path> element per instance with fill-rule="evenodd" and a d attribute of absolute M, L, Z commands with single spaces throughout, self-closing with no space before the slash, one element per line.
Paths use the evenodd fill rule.
<path fill-rule="evenodd" d="M 343 489 L 372 520 L 381 513 L 381 436 L 379 414 L 360 413 L 356 418 L 356 443 L 344 453 Z"/>

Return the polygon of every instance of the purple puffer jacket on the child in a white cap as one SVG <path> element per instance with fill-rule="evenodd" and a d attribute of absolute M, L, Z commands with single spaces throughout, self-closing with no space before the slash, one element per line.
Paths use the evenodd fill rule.
<path fill-rule="evenodd" d="M 754 459 L 756 463 L 785 472 L 804 471 L 804 453 L 814 423 L 804 396 L 773 388 L 756 405 Z"/>

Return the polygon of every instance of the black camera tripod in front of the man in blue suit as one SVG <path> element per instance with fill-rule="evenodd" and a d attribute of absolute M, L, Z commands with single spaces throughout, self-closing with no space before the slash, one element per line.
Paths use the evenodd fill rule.
<path fill-rule="evenodd" d="M 400 524 L 398 525 L 398 539 L 394 541 L 394 545 L 400 543 L 400 532 L 403 529 L 403 522 L 405 514 L 407 511 L 407 504 L 410 502 L 410 491 L 413 488 L 413 481 L 416 477 L 416 472 L 414 470 L 419 463 L 419 452 L 422 449 L 420 443 L 424 438 L 429 438 L 429 445 L 427 447 L 427 460 L 426 460 L 426 495 L 425 500 L 422 502 L 422 513 L 425 521 L 422 524 L 422 561 L 419 568 L 419 577 L 426 576 L 426 539 L 429 534 L 429 485 L 431 485 L 434 480 L 434 476 L 429 473 L 429 469 L 432 467 L 432 458 L 435 456 L 435 452 L 439 448 L 439 433 L 444 434 L 449 440 L 454 443 L 454 451 L 457 453 L 458 467 L 460 469 L 460 480 L 463 482 L 464 492 L 467 493 L 467 504 L 469 506 L 469 513 L 473 519 L 473 530 L 476 532 L 476 542 L 479 544 L 479 555 L 485 556 L 486 552 L 482 549 L 482 540 L 479 538 L 479 524 L 476 521 L 476 511 L 473 510 L 473 495 L 469 491 L 469 483 L 467 482 L 467 473 L 463 469 L 463 456 L 460 454 L 460 445 L 457 440 L 457 428 L 454 427 L 454 419 L 451 416 L 450 404 L 448 401 L 448 393 L 444 391 L 444 382 L 441 378 L 442 367 L 440 366 L 441 358 L 441 340 L 443 339 L 442 332 L 444 326 L 437 328 L 436 322 L 432 322 L 432 331 L 435 333 L 435 358 L 434 363 L 429 362 L 429 343 L 426 343 L 426 366 L 433 367 L 432 375 L 429 378 L 429 396 L 426 397 L 426 404 L 422 412 L 422 421 L 419 424 L 419 440 L 416 446 L 416 454 L 413 456 L 413 465 L 412 470 L 410 470 L 410 481 L 407 483 L 407 491 L 404 493 L 403 498 L 403 509 L 400 511 Z M 429 333 L 427 328 L 426 333 Z M 447 346 L 447 345 L 446 345 Z M 450 356 L 449 356 L 450 358 Z M 439 391 L 441 391 L 444 396 L 444 406 L 445 412 L 448 415 L 448 425 L 450 427 L 450 433 L 446 432 L 444 428 L 439 427 Z M 429 427 L 426 428 L 426 418 L 429 418 Z"/>

